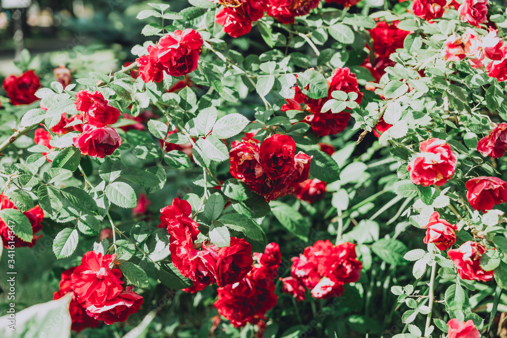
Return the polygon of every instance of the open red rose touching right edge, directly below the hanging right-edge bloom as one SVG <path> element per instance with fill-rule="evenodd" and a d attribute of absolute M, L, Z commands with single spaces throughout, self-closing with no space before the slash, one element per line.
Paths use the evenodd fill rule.
<path fill-rule="evenodd" d="M 507 202 L 507 182 L 498 177 L 480 176 L 469 179 L 465 184 L 466 199 L 472 208 L 485 212 L 495 204 Z"/>

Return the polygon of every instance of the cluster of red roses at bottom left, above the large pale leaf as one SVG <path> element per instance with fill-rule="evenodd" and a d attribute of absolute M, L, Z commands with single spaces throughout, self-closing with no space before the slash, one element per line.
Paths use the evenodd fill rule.
<path fill-rule="evenodd" d="M 96 327 L 100 324 L 97 321 L 108 325 L 124 322 L 139 311 L 142 297 L 132 291 L 132 286 L 123 288 L 119 269 L 110 269 L 115 258 L 116 254 L 89 251 L 81 259 L 81 265 L 63 272 L 60 290 L 54 298 L 74 292 L 69 308 L 73 330 Z"/>

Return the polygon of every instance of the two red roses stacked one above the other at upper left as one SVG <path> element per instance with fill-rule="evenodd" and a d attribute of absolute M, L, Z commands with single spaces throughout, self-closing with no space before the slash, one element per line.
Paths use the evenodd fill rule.
<path fill-rule="evenodd" d="M 81 154 L 103 159 L 111 155 L 122 144 L 115 128 L 121 112 L 108 103 L 100 92 L 82 90 L 76 94 L 76 108 L 84 113 L 86 119 L 83 132 L 73 138 L 74 145 Z"/>

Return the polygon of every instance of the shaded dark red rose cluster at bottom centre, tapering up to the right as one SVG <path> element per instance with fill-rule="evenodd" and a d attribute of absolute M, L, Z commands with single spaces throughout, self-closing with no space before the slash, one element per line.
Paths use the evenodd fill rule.
<path fill-rule="evenodd" d="M 215 307 L 219 313 L 231 321 L 235 327 L 246 323 L 264 327 L 266 312 L 276 305 L 276 270 L 281 263 L 278 244 L 270 243 L 264 253 L 255 253 L 257 264 L 238 283 L 219 287 L 219 298 Z"/>

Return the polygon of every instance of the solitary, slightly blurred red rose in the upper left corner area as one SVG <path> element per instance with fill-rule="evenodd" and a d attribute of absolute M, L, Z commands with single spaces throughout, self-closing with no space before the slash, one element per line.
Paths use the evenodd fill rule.
<path fill-rule="evenodd" d="M 35 92 L 41 88 L 41 81 L 33 70 L 22 73 L 19 77 L 8 76 L 4 80 L 4 90 L 13 105 L 30 104 L 39 98 Z"/>

